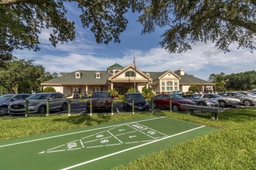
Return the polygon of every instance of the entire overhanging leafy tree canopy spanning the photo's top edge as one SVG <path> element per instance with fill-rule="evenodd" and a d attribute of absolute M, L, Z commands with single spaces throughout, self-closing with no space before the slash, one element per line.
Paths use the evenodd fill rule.
<path fill-rule="evenodd" d="M 97 43 L 114 40 L 125 31 L 125 14 L 143 10 L 138 21 L 142 34 L 156 27 L 166 29 L 161 46 L 168 52 L 184 52 L 191 44 L 216 42 L 217 48 L 229 51 L 255 49 L 256 0 L 2 0 L 0 1 L 0 65 L 12 58 L 13 50 L 39 50 L 39 34 L 51 29 L 53 46 L 75 40 L 75 23 L 66 17 L 65 5 L 77 5 L 80 19 Z"/>

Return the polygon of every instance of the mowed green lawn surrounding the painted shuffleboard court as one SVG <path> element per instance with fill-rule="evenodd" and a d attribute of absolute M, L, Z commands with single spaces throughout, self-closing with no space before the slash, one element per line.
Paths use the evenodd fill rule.
<path fill-rule="evenodd" d="M 210 113 L 195 116 L 181 112 L 160 111 L 154 114 L 169 116 L 220 130 L 188 142 L 171 146 L 115 169 L 256 169 L 256 109 L 225 110 L 219 120 Z M 152 113 L 111 115 L 53 115 L 28 118 L 0 118 L 0 139 L 24 137 L 62 129 L 93 126 L 151 116 Z"/>

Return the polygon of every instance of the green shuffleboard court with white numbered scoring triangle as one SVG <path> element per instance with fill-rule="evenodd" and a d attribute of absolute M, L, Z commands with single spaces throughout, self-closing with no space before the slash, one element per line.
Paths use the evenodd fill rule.
<path fill-rule="evenodd" d="M 217 131 L 150 116 L 0 141 L 0 169 L 111 169 Z"/>

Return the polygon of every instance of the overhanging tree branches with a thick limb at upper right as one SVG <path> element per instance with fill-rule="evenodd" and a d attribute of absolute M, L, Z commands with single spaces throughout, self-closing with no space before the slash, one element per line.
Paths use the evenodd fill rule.
<path fill-rule="evenodd" d="M 229 51 L 255 49 L 255 0 L 148 0 L 139 17 L 142 34 L 154 32 L 156 26 L 166 29 L 161 46 L 168 52 L 184 52 L 198 41 L 216 42 L 215 46 Z"/>

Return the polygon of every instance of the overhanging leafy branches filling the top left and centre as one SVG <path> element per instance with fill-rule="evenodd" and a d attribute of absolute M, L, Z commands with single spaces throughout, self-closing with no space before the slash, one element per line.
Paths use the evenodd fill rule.
<path fill-rule="evenodd" d="M 72 1 L 72 0 L 2 0 L 0 1 L 0 64 L 12 58 L 15 49 L 39 50 L 39 34 L 51 29 L 49 41 L 74 41 L 75 23 L 66 17 L 65 4 L 75 3 L 81 10 L 81 23 L 95 35 L 96 42 L 119 42 L 128 23 L 129 9 L 140 11 L 140 0 Z"/>

